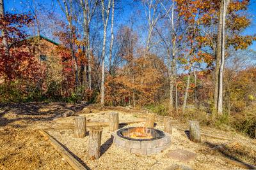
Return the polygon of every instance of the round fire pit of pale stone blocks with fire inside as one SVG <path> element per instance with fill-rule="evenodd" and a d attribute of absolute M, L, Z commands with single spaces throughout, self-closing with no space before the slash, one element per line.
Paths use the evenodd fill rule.
<path fill-rule="evenodd" d="M 131 153 L 149 155 L 159 153 L 170 146 L 170 134 L 158 129 L 128 127 L 113 132 L 117 147 Z"/>

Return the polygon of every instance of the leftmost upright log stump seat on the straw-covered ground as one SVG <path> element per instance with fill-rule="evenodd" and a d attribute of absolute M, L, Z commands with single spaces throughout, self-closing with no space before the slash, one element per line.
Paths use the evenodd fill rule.
<path fill-rule="evenodd" d="M 74 137 L 84 138 L 86 133 L 86 117 L 75 117 Z"/>

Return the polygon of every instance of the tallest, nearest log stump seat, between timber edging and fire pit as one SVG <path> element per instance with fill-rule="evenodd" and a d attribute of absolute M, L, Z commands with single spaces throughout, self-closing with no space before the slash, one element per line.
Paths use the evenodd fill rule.
<path fill-rule="evenodd" d="M 99 159 L 102 128 L 92 128 L 89 132 L 88 154 L 90 159 Z"/>

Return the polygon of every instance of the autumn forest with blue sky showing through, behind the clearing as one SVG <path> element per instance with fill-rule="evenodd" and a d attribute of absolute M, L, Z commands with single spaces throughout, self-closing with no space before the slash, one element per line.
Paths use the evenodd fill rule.
<path fill-rule="evenodd" d="M 249 0 L 21 2 L 22 13 L 4 11 L 0 0 L 1 103 L 147 108 L 255 137 Z M 40 35 L 60 44 L 61 76 L 25 51 L 26 43 L 12 47 Z"/>

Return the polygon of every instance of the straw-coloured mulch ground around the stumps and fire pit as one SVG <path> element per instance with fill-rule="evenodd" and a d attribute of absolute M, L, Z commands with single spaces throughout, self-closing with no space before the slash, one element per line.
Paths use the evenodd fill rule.
<path fill-rule="evenodd" d="M 0 169 L 72 169 L 36 129 L 45 129 L 90 169 L 166 169 L 175 165 L 191 169 L 240 169 L 227 164 L 220 157 L 237 158 L 242 162 L 256 164 L 256 146 L 253 139 L 231 131 L 223 132 L 202 127 L 204 133 L 225 136 L 238 141 L 227 145 L 225 153 L 218 150 L 205 153 L 211 147 L 230 141 L 203 136 L 202 143 L 193 143 L 189 141 L 184 131 L 177 130 L 187 130 L 188 125 L 175 121 L 173 121 L 175 129 L 170 148 L 157 155 L 143 156 L 125 152 L 113 145 L 111 132 L 105 125 L 102 132 L 100 159 L 90 160 L 87 155 L 88 132 L 85 138 L 74 138 L 74 117 L 60 117 L 63 110 L 68 109 L 85 115 L 88 125 L 106 124 L 109 111 L 118 111 L 120 122 L 141 120 L 141 117 L 145 117 L 145 112 L 127 108 L 88 106 L 92 113 L 82 113 L 81 110 L 86 105 L 64 103 L 2 104 L 0 106 Z M 122 124 L 122 127 L 143 125 L 144 123 Z M 157 117 L 156 129 L 163 131 L 163 118 Z M 189 162 L 181 162 L 166 156 L 166 153 L 177 149 L 196 153 L 196 158 Z"/>

